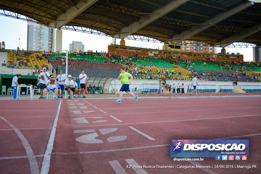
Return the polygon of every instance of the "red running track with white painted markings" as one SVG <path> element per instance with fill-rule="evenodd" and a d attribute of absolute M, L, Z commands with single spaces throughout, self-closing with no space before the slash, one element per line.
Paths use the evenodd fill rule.
<path fill-rule="evenodd" d="M 260 97 L 5 100 L 0 173 L 260 173 Z M 171 139 L 247 139 L 249 157 L 177 162 Z M 257 168 L 179 168 L 220 164 Z"/>

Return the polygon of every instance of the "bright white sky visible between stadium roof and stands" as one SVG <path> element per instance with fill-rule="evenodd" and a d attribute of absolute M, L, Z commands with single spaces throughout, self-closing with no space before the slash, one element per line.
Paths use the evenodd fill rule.
<path fill-rule="evenodd" d="M 19 46 L 20 38 L 20 49 L 25 49 L 27 47 L 27 21 L 14 19 L 11 17 L 0 16 L 0 41 L 5 42 L 6 49 L 17 49 Z M 62 30 L 62 49 L 69 50 L 69 44 L 72 41 L 79 41 L 84 44 L 84 51 L 93 50 L 94 52 L 108 51 L 108 45 L 112 43 L 114 39 L 102 35 L 82 33 L 76 31 Z M 116 39 L 116 44 L 120 44 L 120 39 Z M 160 43 L 153 43 L 147 41 L 137 41 L 137 40 L 125 40 L 126 46 L 136 46 L 142 48 L 152 48 L 162 49 Z M 221 52 L 220 47 L 216 47 L 217 52 Z M 253 48 L 228 48 L 226 47 L 226 52 L 230 53 L 240 53 L 244 55 L 244 61 L 253 60 Z"/>

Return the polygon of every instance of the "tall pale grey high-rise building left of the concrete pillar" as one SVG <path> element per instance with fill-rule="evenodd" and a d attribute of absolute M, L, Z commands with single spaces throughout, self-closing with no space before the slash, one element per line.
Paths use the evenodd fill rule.
<path fill-rule="evenodd" d="M 27 50 L 49 51 L 49 28 L 38 23 L 27 23 Z"/>

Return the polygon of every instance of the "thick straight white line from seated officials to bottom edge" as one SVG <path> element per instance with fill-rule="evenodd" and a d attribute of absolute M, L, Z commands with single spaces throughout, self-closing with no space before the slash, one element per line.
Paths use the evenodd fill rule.
<path fill-rule="evenodd" d="M 50 167 L 50 159 L 51 159 L 51 153 L 52 153 L 52 148 L 54 145 L 54 137 L 55 137 L 55 132 L 56 132 L 56 127 L 57 127 L 57 122 L 58 122 L 58 117 L 59 117 L 59 113 L 60 113 L 60 109 L 61 109 L 61 104 L 62 104 L 62 100 L 60 100 L 60 104 L 56 113 L 56 117 L 54 119 L 54 124 L 52 126 L 52 131 L 51 131 L 51 135 L 48 141 L 48 145 L 44 154 L 44 160 L 43 160 L 43 165 L 42 165 L 42 169 L 41 169 L 41 174 L 44 173 L 48 173 L 49 172 L 49 167 Z"/>

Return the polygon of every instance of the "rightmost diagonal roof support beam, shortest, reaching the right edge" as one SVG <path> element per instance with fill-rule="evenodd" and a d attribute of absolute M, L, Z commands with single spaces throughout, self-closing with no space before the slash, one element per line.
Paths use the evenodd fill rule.
<path fill-rule="evenodd" d="M 234 42 L 238 42 L 239 40 L 244 39 L 245 37 L 248 37 L 251 34 L 254 34 L 254 33 L 256 33 L 260 30 L 261 30 L 261 24 L 250 28 L 249 32 L 241 32 L 241 33 L 236 34 L 236 35 L 234 35 L 230 38 L 224 39 L 220 42 L 221 44 L 218 44 L 217 46 L 218 47 L 226 47 L 226 46 L 233 44 Z"/>

